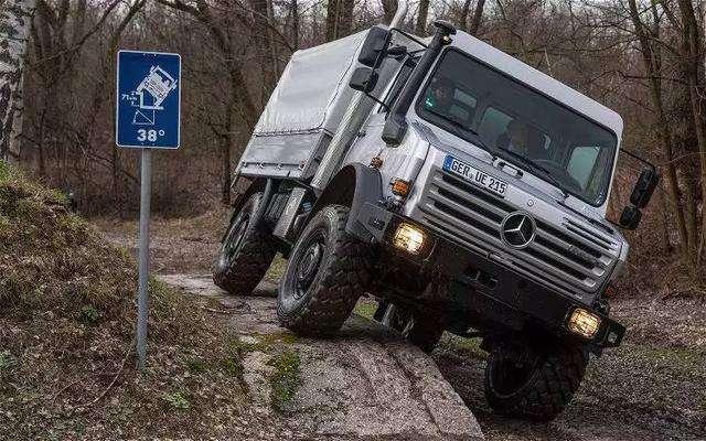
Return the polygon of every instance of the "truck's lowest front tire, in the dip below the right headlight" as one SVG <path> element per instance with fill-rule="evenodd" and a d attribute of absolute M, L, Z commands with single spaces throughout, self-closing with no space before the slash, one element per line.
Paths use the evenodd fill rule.
<path fill-rule="evenodd" d="M 513 355 L 494 347 L 485 366 L 485 398 L 498 413 L 532 421 L 550 421 L 569 404 L 578 390 L 588 354 L 580 347 L 558 347 L 548 354 L 531 355 L 532 368 L 525 380 L 509 386 L 496 375 Z"/>

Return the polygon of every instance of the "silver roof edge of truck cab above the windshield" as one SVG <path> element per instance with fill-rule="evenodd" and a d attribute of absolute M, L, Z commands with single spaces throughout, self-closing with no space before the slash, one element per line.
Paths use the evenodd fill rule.
<path fill-rule="evenodd" d="M 601 105 L 586 95 L 574 90 L 569 86 L 552 78 L 541 71 L 507 55 L 506 53 L 484 43 L 466 32 L 459 31 L 452 37 L 452 46 L 467 52 L 475 58 L 504 72 L 522 83 L 542 92 L 559 103 L 573 108 L 579 114 L 611 129 L 618 137 L 622 133 L 622 118 L 616 111 Z"/>

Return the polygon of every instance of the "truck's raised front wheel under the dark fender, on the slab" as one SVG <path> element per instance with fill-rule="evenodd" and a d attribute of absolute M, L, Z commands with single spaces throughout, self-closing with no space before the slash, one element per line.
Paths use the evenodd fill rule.
<path fill-rule="evenodd" d="M 339 331 L 366 290 L 370 246 L 345 232 L 347 217 L 347 207 L 322 208 L 291 251 L 279 286 L 277 315 L 284 326 L 299 335 L 324 336 Z M 306 265 L 306 254 L 312 247 L 320 249 L 314 269 Z M 306 287 L 304 276 L 312 278 Z"/>

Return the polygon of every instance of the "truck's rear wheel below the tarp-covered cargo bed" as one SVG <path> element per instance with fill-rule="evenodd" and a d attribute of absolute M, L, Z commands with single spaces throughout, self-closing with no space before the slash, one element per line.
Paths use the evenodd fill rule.
<path fill-rule="evenodd" d="M 253 218 L 261 197 L 263 193 L 254 193 L 233 216 L 214 265 L 214 283 L 234 295 L 250 295 L 277 254 L 271 235 L 257 225 L 246 225 L 245 236 L 236 249 L 229 252 L 227 249 L 228 240 L 237 239 L 235 229 L 244 219 Z"/>

